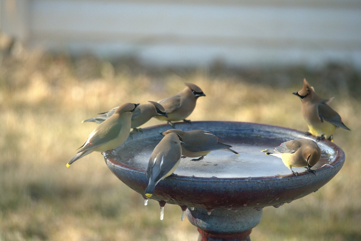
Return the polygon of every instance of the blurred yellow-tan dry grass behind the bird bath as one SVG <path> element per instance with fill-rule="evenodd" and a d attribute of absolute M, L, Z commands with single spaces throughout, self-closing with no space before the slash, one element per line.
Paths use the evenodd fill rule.
<path fill-rule="evenodd" d="M 361 74 L 351 66 L 150 68 L 136 60 L 72 58 L 41 51 L 3 53 L 0 59 L 0 240 L 197 240 L 181 208 L 144 206 L 92 153 L 66 163 L 95 128 L 81 121 L 124 102 L 146 103 L 178 93 L 184 82 L 207 95 L 192 121 L 274 124 L 306 131 L 299 91 L 306 78 L 352 130 L 334 142 L 346 154 L 341 171 L 318 192 L 264 209 L 251 238 L 274 241 L 361 240 Z M 154 119 L 145 126 L 161 124 Z M 144 127 L 144 126 L 143 126 Z"/>

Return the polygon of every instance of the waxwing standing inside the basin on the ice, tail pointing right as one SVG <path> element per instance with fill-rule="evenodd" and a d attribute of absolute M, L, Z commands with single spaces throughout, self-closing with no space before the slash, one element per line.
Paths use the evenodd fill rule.
<path fill-rule="evenodd" d="M 229 150 L 239 155 L 238 152 L 231 149 L 232 146 L 219 142 L 218 137 L 209 131 L 181 131 L 172 129 L 160 134 L 167 135 L 168 133 L 172 132 L 179 135 L 183 140 L 183 157 L 200 157 L 198 159 L 192 159 L 191 161 L 200 161 L 206 154 L 213 150 Z"/>

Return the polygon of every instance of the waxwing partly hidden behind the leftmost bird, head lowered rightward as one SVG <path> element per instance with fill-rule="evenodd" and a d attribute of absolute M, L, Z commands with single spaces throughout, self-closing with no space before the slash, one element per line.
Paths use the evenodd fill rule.
<path fill-rule="evenodd" d="M 148 102 L 149 104 L 139 105 L 133 112 L 132 120 L 131 120 L 131 128 L 133 128 L 133 131 L 141 131 L 142 129 L 137 127 L 141 126 L 142 124 L 145 124 L 152 117 L 155 117 L 157 115 L 168 117 L 164 107 L 161 104 L 154 101 L 148 101 Z M 112 116 L 114 111 L 118 107 L 113 108 L 112 110 L 109 110 L 107 112 L 99 113 L 97 117 L 87 119 L 82 122 L 96 122 L 98 124 L 102 123 L 110 116 Z"/>

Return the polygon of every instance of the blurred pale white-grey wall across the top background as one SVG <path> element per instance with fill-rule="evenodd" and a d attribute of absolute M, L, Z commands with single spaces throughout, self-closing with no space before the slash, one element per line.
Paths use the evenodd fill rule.
<path fill-rule="evenodd" d="M 159 65 L 361 67 L 360 0 L 1 0 L 0 30 L 29 47 Z"/>

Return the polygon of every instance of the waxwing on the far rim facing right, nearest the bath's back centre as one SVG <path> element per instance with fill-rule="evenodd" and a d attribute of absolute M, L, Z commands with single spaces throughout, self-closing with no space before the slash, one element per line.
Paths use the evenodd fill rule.
<path fill-rule="evenodd" d="M 155 118 L 161 121 L 167 121 L 171 127 L 174 128 L 172 121 L 181 121 L 190 123 L 186 118 L 192 113 L 196 107 L 197 98 L 205 96 L 202 89 L 192 83 L 184 83 L 187 87 L 184 88 L 177 95 L 158 101 L 161 104 L 168 117 L 156 116 Z"/>

